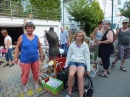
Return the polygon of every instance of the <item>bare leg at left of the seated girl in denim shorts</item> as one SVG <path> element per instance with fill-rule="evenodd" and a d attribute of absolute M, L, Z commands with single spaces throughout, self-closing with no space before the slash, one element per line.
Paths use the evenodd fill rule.
<path fill-rule="evenodd" d="M 69 78 L 68 78 L 68 92 L 69 95 L 72 94 L 73 78 L 76 73 L 77 67 L 72 65 L 69 67 Z"/>

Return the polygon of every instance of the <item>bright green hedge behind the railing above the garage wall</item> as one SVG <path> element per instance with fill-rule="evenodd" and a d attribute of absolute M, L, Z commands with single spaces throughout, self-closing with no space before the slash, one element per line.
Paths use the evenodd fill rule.
<path fill-rule="evenodd" d="M 32 4 L 33 17 L 41 19 L 60 20 L 60 0 L 30 0 Z"/>

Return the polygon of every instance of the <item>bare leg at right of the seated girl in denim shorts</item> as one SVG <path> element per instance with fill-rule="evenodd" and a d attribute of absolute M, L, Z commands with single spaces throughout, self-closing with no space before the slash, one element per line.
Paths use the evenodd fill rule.
<path fill-rule="evenodd" d="M 79 96 L 83 97 L 84 92 L 84 76 L 85 68 L 83 66 L 78 66 L 77 68 L 77 75 L 78 75 L 78 86 L 79 86 Z"/>

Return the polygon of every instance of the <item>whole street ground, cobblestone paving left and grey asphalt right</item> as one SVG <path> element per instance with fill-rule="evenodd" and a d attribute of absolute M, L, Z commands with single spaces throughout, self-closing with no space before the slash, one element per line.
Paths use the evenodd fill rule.
<path fill-rule="evenodd" d="M 111 62 L 114 58 L 111 58 Z M 24 93 L 20 86 L 21 70 L 19 65 L 14 67 L 3 67 L 0 65 L 0 97 L 55 97 L 44 90 L 35 90 L 33 85 L 32 75 L 30 74 L 27 84 L 28 93 Z M 130 97 L 130 60 L 127 60 L 125 67 L 128 72 L 125 73 L 119 69 L 120 61 L 116 67 L 111 69 L 111 74 L 108 78 L 96 76 L 92 78 L 94 84 L 93 97 Z M 102 67 L 100 66 L 101 72 Z M 64 97 L 67 94 L 67 89 L 62 91 L 57 97 Z M 73 93 L 73 97 L 79 97 L 78 92 Z"/>

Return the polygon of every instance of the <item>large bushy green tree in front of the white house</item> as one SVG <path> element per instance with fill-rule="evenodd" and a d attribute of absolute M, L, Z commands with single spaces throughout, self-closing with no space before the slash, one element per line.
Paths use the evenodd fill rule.
<path fill-rule="evenodd" d="M 85 25 L 85 32 L 89 35 L 97 26 L 97 23 L 104 19 L 104 14 L 99 3 L 94 0 L 89 3 L 88 0 L 74 0 L 67 7 L 68 13 L 73 20 Z"/>

